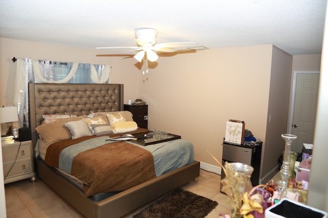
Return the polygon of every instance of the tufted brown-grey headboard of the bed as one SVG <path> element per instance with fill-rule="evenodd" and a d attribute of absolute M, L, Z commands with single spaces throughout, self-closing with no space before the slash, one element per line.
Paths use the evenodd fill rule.
<path fill-rule="evenodd" d="M 29 83 L 29 126 L 33 149 L 35 127 L 45 114 L 75 114 L 123 111 L 123 84 Z"/>

